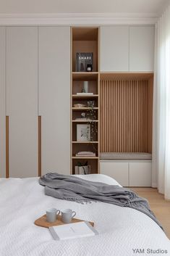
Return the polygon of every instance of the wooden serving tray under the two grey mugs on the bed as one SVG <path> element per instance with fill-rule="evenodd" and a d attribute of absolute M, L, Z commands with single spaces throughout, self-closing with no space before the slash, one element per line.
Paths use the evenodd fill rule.
<path fill-rule="evenodd" d="M 73 218 L 71 223 L 76 223 L 76 222 L 80 222 L 80 221 L 85 221 L 85 220 L 79 220 L 79 219 Z M 89 223 L 91 224 L 91 226 L 94 226 L 93 222 L 89 221 Z M 58 218 L 55 222 L 49 223 L 46 220 L 46 214 L 45 214 L 41 218 L 38 218 L 37 220 L 35 220 L 34 224 L 36 226 L 41 226 L 43 228 L 49 228 L 49 227 L 52 227 L 52 226 L 64 225 L 66 223 L 61 221 L 61 215 L 58 215 Z"/>

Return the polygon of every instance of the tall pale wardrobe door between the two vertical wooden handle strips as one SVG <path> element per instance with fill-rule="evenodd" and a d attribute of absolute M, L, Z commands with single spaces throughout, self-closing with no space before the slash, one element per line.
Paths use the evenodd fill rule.
<path fill-rule="evenodd" d="M 9 177 L 38 176 L 38 28 L 7 28 Z"/>

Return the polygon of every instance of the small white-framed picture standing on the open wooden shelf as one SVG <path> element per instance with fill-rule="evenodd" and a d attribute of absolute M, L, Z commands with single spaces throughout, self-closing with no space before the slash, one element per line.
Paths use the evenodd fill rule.
<path fill-rule="evenodd" d="M 77 125 L 77 141 L 90 141 L 90 125 Z"/>

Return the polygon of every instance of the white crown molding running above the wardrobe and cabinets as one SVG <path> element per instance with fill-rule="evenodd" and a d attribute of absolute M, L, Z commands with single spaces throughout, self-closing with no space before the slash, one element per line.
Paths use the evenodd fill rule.
<path fill-rule="evenodd" d="M 154 25 L 154 13 L 0 14 L 0 25 Z"/>

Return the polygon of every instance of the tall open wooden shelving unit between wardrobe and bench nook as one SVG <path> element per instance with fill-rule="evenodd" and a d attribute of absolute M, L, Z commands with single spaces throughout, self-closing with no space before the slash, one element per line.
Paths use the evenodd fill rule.
<path fill-rule="evenodd" d="M 75 166 L 78 162 L 82 165 L 88 161 L 90 173 L 99 173 L 99 64 L 98 64 L 98 28 L 72 28 L 72 76 L 71 76 L 71 173 L 75 174 Z M 76 72 L 75 62 L 77 52 L 93 52 L 93 71 Z M 77 95 L 82 91 L 83 81 L 88 81 L 88 92 L 91 95 Z M 94 102 L 94 107 L 88 107 L 88 101 Z M 84 104 L 85 107 L 74 107 L 75 104 Z M 89 120 L 90 111 L 95 113 L 93 120 Z M 82 112 L 87 120 L 80 120 Z M 78 118 L 78 120 L 76 120 Z M 95 133 L 91 132 L 90 141 L 77 141 L 77 125 L 88 124 L 90 128 L 95 126 Z M 76 157 L 77 152 L 94 152 L 95 157 Z"/>

